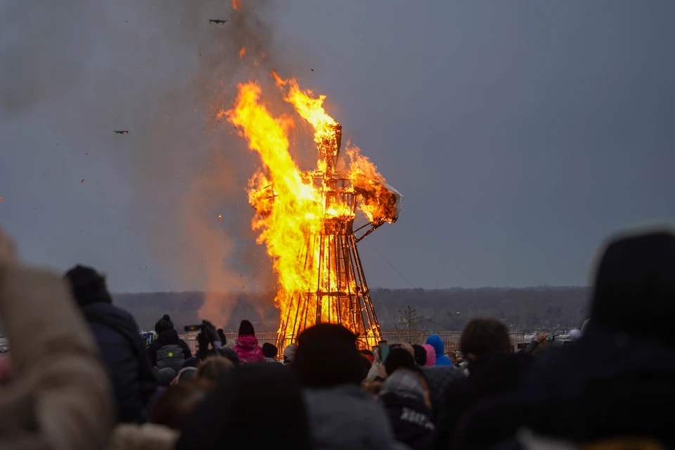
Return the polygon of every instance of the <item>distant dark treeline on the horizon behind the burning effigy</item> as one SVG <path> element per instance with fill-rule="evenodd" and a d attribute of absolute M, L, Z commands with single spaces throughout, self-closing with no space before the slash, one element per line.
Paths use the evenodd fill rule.
<path fill-rule="evenodd" d="M 213 295 L 213 294 L 212 294 Z M 424 318 L 428 332 L 461 330 L 474 317 L 494 317 L 512 330 L 578 328 L 585 319 L 589 290 L 579 287 L 480 289 L 373 289 L 371 298 L 383 330 L 393 330 L 399 310 L 410 305 Z M 153 329 L 162 314 L 170 314 L 176 327 L 198 323 L 205 293 L 116 294 L 115 303 L 134 314 L 144 330 Z M 236 331 L 249 319 L 257 331 L 276 331 L 278 310 L 274 293 L 222 294 L 226 331 Z M 224 320 L 221 320 L 223 322 Z"/>

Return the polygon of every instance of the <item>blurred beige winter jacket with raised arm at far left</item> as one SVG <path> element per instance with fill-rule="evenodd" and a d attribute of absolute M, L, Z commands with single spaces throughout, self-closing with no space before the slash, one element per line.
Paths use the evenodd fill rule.
<path fill-rule="evenodd" d="M 100 449 L 113 428 L 110 384 L 64 282 L 0 269 L 0 317 L 14 371 L 0 390 L 0 449 Z"/>

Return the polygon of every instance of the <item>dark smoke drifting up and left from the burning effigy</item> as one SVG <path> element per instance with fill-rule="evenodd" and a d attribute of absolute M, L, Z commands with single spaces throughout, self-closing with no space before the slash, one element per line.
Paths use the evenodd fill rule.
<path fill-rule="evenodd" d="M 0 117 L 49 108 L 51 126 L 105 152 L 136 195 L 129 233 L 146 234 L 185 289 L 237 291 L 253 277 L 247 290 L 269 290 L 276 279 L 250 230 L 244 188 L 257 160 L 215 118 L 233 103 L 237 82 L 258 79 L 275 92 L 269 71 L 290 72 L 275 51 L 271 1 L 242 3 L 239 11 L 207 0 L 0 7 Z M 224 321 L 229 305 L 207 295 L 205 308 Z"/>

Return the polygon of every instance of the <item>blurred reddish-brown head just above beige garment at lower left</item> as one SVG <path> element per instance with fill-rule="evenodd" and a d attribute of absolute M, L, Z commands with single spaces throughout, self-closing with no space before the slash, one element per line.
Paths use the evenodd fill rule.
<path fill-rule="evenodd" d="M 181 430 L 207 391 L 208 385 L 200 380 L 181 380 L 169 386 L 150 408 L 150 422 Z"/>

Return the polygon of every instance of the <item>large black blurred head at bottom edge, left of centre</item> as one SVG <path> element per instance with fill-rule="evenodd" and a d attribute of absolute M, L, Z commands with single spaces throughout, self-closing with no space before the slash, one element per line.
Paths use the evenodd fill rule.
<path fill-rule="evenodd" d="M 244 364 L 227 373 L 186 420 L 176 450 L 224 443 L 233 449 L 276 448 L 280 438 L 283 448 L 310 449 L 302 387 L 281 364 Z"/>

